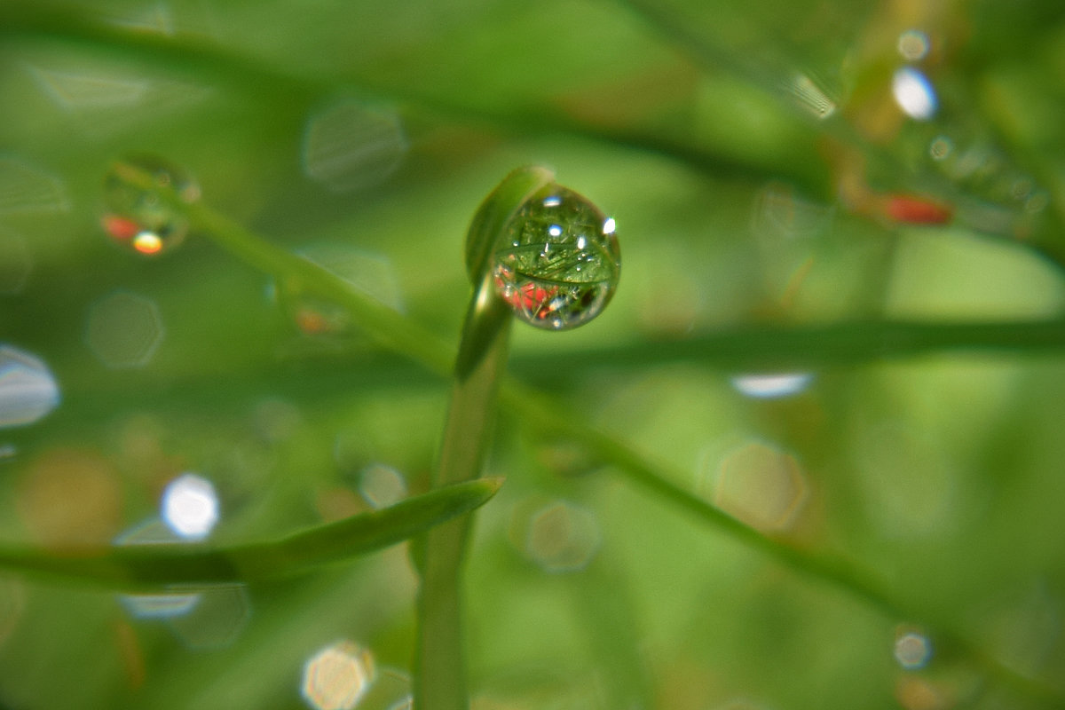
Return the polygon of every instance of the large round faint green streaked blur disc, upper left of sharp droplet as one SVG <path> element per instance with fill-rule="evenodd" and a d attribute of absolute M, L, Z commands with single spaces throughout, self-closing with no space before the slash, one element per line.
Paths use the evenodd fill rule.
<path fill-rule="evenodd" d="M 343 100 L 308 119 L 304 170 L 331 192 L 351 193 L 391 177 L 408 149 L 395 112 Z"/>

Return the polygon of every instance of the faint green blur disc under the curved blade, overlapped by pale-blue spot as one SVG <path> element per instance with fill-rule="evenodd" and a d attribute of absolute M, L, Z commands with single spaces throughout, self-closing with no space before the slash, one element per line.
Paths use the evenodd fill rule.
<path fill-rule="evenodd" d="M 243 584 L 218 584 L 197 590 L 198 600 L 184 614 L 166 618 L 174 635 L 194 650 L 225 648 L 251 618 L 251 602 Z"/>

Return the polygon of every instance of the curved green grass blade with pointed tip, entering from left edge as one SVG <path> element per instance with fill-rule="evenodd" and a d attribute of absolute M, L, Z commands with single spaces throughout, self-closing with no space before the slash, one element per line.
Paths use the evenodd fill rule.
<path fill-rule="evenodd" d="M 495 478 L 448 485 L 280 540 L 235 547 L 192 544 L 67 549 L 0 547 L 0 567 L 124 590 L 277 579 L 408 540 L 484 505 L 502 483 L 502 479 Z"/>

